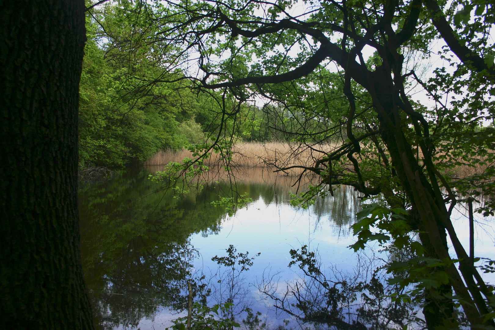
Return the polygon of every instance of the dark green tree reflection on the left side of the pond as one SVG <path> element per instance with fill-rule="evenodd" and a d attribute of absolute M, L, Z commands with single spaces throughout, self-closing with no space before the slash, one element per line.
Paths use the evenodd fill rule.
<path fill-rule="evenodd" d="M 183 309 L 181 289 L 197 256 L 193 233 L 219 230 L 222 210 L 196 196 L 153 193 L 148 171 L 81 182 L 81 250 L 93 308 L 104 329 L 136 327 L 156 306 Z M 205 192 L 203 192 L 205 193 Z"/>

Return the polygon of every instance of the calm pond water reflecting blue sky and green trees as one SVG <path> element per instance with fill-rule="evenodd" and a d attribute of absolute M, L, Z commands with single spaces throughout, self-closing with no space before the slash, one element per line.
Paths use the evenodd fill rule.
<path fill-rule="evenodd" d="M 169 327 L 172 319 L 185 315 L 184 287 L 191 279 L 209 285 L 210 304 L 225 301 L 225 285 L 222 288 L 218 280 L 226 282 L 228 273 L 211 258 L 225 256 L 230 244 L 250 257 L 261 253 L 238 278 L 236 311 L 247 304 L 271 325 L 291 318 L 276 313 L 259 286 L 267 279 L 280 287 L 297 280 L 297 268 L 288 267 L 291 249 L 308 245 L 325 268 L 332 266 L 343 276 L 363 272 L 356 265 L 373 257 L 371 252 L 356 254 L 347 248 L 354 242 L 350 224 L 360 210 L 359 198 L 349 188 L 302 210 L 289 204 L 293 178 L 254 169 L 238 173 L 235 185 L 222 177 L 210 178 L 217 183 L 178 196 L 156 192 L 161 185 L 148 180 L 156 170 L 160 168 L 123 171 L 109 180 L 81 184 L 83 267 L 104 329 Z M 211 201 L 232 188 L 247 192 L 253 202 L 229 216 Z M 454 225 L 468 246 L 463 212 L 461 208 L 454 215 Z M 477 226 L 477 256 L 494 257 L 491 221 L 480 220 Z M 240 314 L 237 320 L 245 317 Z"/>

